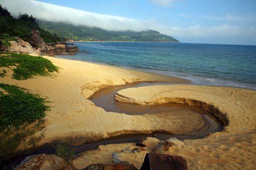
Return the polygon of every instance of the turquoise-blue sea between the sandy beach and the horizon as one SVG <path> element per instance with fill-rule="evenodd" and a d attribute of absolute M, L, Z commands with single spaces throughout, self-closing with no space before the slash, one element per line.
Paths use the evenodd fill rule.
<path fill-rule="evenodd" d="M 256 46 L 76 42 L 81 53 L 61 58 L 190 79 L 194 84 L 256 89 Z"/>

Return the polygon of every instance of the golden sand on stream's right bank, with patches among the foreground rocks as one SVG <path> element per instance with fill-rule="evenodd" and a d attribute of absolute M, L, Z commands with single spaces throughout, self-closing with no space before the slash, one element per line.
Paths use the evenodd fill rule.
<path fill-rule="evenodd" d="M 219 116 L 228 120 L 225 131 L 210 134 L 204 139 L 184 140 L 184 145 L 161 153 L 183 156 L 190 170 L 251 170 L 256 166 L 256 91 L 230 87 L 154 85 L 121 90 L 115 99 L 141 105 L 176 102 L 206 109 L 213 106 L 223 113 Z M 139 169 L 145 154 L 152 152 L 156 145 L 152 143 L 144 147 L 146 151 L 136 154 L 123 153 L 121 160 Z M 137 146 L 135 143 L 99 146 L 96 150 L 83 152 L 74 165 L 85 168 L 91 163 L 109 164 L 113 162 L 111 153 L 120 153 L 125 148 L 134 149 Z"/>

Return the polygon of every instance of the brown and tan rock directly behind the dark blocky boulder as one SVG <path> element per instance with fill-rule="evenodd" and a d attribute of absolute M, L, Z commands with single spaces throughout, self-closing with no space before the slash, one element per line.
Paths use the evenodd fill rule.
<path fill-rule="evenodd" d="M 181 147 L 183 144 L 182 141 L 177 138 L 169 138 L 161 143 L 159 143 L 152 151 L 152 153 L 162 153 L 168 151 L 169 147 Z"/>

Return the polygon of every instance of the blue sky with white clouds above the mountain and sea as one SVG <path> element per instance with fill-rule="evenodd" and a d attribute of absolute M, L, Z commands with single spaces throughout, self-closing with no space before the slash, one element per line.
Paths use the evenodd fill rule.
<path fill-rule="evenodd" d="M 13 16 L 107 30 L 157 30 L 184 43 L 256 45 L 256 0 L 0 0 Z"/>

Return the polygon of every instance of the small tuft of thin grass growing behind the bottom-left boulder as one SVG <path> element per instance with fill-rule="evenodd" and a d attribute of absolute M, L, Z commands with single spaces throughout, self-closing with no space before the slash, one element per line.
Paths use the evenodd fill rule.
<path fill-rule="evenodd" d="M 76 149 L 69 147 L 67 144 L 52 145 L 55 148 L 56 155 L 63 158 L 68 165 L 72 165 L 73 160 L 76 158 Z"/>

